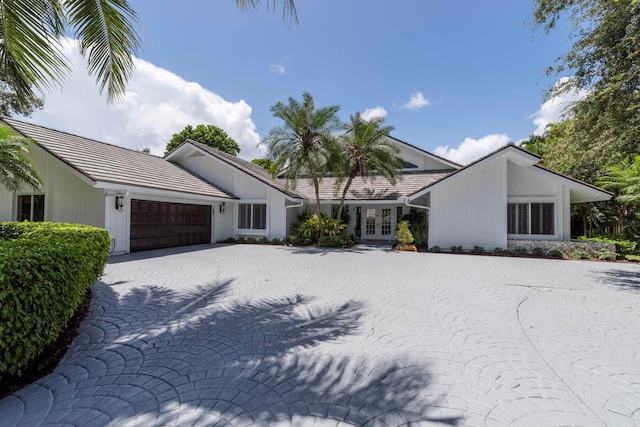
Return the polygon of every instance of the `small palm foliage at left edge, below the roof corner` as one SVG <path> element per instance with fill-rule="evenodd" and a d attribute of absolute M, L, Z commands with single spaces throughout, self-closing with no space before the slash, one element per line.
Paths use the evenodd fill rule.
<path fill-rule="evenodd" d="M 27 184 L 34 190 L 42 185 L 42 180 L 26 156 L 29 152 L 28 143 L 27 138 L 0 126 L 0 183 L 13 193 L 18 191 L 21 184 Z"/>

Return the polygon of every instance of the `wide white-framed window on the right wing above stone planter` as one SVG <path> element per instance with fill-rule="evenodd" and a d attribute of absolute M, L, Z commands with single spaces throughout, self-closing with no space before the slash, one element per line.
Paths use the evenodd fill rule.
<path fill-rule="evenodd" d="M 509 203 L 508 234 L 554 234 L 553 203 Z"/>

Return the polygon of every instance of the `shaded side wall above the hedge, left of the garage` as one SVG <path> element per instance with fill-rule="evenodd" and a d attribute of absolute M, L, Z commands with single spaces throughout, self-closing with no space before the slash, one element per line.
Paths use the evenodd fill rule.
<path fill-rule="evenodd" d="M 43 149 L 31 145 L 29 157 L 43 180 L 44 219 L 105 227 L 104 191 L 91 187 L 74 175 L 64 163 Z M 34 194 L 29 188 L 18 194 Z M 11 221 L 17 215 L 17 196 L 0 188 L 0 220 Z"/>

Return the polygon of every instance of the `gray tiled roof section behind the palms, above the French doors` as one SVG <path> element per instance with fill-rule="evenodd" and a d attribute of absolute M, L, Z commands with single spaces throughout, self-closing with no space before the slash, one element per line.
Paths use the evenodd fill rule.
<path fill-rule="evenodd" d="M 358 177 L 353 180 L 346 200 L 395 200 L 398 197 L 407 196 L 439 181 L 451 172 L 453 170 L 406 172 L 402 174 L 401 179 L 398 179 L 396 185 L 391 184 L 382 176 L 369 178 L 366 181 Z M 335 177 L 323 178 L 320 183 L 320 198 L 323 200 L 340 200 L 344 183 L 340 185 L 337 193 L 335 185 Z M 307 199 L 315 200 L 313 182 L 308 178 L 300 178 L 298 180 L 296 191 L 303 194 Z"/>

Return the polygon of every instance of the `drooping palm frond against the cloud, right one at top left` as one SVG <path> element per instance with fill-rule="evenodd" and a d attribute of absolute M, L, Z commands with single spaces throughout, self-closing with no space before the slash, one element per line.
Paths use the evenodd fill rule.
<path fill-rule="evenodd" d="M 132 55 L 140 47 L 135 11 L 126 0 L 65 0 L 64 4 L 89 73 L 101 93 L 107 89 L 109 102 L 120 101 L 134 70 Z"/>

